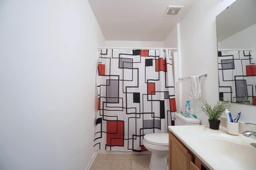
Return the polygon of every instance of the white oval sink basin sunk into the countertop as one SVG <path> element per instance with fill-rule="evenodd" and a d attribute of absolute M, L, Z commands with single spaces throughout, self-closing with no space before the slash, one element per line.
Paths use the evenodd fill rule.
<path fill-rule="evenodd" d="M 234 137 L 232 139 L 218 136 L 202 140 L 200 143 L 202 148 L 209 150 L 214 156 L 221 156 L 227 164 L 232 164 L 241 169 L 255 170 L 256 148 L 241 138 Z"/>

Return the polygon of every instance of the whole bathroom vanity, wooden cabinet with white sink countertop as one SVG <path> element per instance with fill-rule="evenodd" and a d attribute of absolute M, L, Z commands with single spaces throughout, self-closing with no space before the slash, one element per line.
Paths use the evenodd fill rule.
<path fill-rule="evenodd" d="M 255 170 L 255 139 L 205 125 L 169 126 L 169 170 Z"/>

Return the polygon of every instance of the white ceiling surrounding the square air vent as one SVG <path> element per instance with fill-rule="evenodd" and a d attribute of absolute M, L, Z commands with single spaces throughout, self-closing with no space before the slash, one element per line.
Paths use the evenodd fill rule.
<path fill-rule="evenodd" d="M 88 0 L 106 40 L 164 41 L 196 0 Z M 163 17 L 168 6 L 184 6 Z"/>

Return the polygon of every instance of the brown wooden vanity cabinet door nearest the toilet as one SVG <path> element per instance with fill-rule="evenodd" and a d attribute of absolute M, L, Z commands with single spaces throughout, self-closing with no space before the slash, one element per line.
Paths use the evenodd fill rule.
<path fill-rule="evenodd" d="M 193 161 L 193 156 L 190 152 L 170 134 L 170 170 L 189 170 L 190 161 Z"/>

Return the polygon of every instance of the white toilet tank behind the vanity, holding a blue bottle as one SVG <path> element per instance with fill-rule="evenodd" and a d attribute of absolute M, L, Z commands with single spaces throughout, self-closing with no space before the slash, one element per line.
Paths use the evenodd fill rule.
<path fill-rule="evenodd" d="M 185 117 L 181 113 L 175 113 L 174 125 L 200 125 L 200 120 L 194 117 Z"/>

